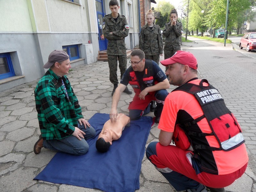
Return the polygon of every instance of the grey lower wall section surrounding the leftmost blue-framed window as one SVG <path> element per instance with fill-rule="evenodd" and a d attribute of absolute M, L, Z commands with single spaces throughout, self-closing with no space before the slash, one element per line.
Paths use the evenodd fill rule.
<path fill-rule="evenodd" d="M 40 78 L 41 66 L 34 35 L 0 34 L 0 53 L 9 52 L 16 76 L 20 79 L 0 84 L 0 92 Z M 43 63 L 42 63 L 43 65 Z"/>

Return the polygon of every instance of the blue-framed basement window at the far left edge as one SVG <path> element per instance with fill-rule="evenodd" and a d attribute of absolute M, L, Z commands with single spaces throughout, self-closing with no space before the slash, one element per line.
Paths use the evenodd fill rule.
<path fill-rule="evenodd" d="M 15 76 L 10 53 L 0 53 L 0 79 Z"/>

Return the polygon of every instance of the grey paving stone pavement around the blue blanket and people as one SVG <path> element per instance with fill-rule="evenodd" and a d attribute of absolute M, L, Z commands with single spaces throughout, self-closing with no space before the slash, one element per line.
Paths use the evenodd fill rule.
<path fill-rule="evenodd" d="M 194 37 L 188 39 L 194 42 L 183 43 L 182 49 L 196 56 L 199 76 L 208 79 L 222 93 L 227 106 L 239 120 L 246 140 L 249 166 L 241 178 L 225 189 L 229 192 L 254 192 L 256 191 L 255 60 L 234 51 L 231 44 L 226 44 L 224 47 L 223 44 Z M 160 60 L 163 59 L 160 57 Z M 164 69 L 164 66 L 161 68 Z M 118 75 L 120 76 L 120 72 Z M 113 85 L 108 77 L 107 62 L 77 66 L 68 74 L 85 119 L 90 119 L 95 113 L 109 113 Z M 36 83 L 37 81 L 33 81 L 0 93 L 0 191 L 100 191 L 33 180 L 56 153 L 44 148 L 38 155 L 33 152 L 34 143 L 40 135 L 34 100 Z M 130 85 L 128 87 L 131 89 Z M 174 86 L 171 85 L 168 91 L 173 88 Z M 122 94 L 118 103 L 119 112 L 128 114 L 127 107 L 133 96 L 134 93 Z M 153 112 L 148 116 L 154 116 Z M 157 125 L 152 126 L 147 145 L 151 141 L 158 140 Z M 137 191 L 174 192 L 175 190 L 144 155 L 140 189 Z"/>

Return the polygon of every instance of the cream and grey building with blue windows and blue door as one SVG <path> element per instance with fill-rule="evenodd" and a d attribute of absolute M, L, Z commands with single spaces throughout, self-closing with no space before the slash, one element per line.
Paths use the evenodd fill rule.
<path fill-rule="evenodd" d="M 0 91 L 42 77 L 50 52 L 66 51 L 71 65 L 86 65 L 107 49 L 102 19 L 110 0 L 1 0 Z M 127 49 L 139 44 L 140 0 L 118 0 L 130 25 Z"/>

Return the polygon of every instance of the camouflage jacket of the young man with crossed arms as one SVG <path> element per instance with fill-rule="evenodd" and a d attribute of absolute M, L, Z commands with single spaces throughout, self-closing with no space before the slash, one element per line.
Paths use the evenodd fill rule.
<path fill-rule="evenodd" d="M 108 39 L 107 54 L 126 55 L 124 37 L 128 36 L 130 28 L 126 18 L 118 13 L 117 21 L 115 21 L 112 14 L 105 15 L 102 28 L 104 36 Z"/>

